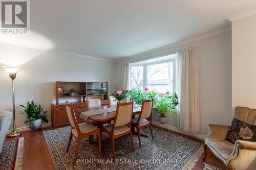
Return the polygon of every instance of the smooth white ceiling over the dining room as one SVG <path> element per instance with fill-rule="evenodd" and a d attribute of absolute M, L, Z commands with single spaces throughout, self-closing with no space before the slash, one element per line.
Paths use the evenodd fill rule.
<path fill-rule="evenodd" d="M 33 0 L 30 30 L 55 51 L 118 60 L 228 28 L 253 9 L 253 0 Z"/>

